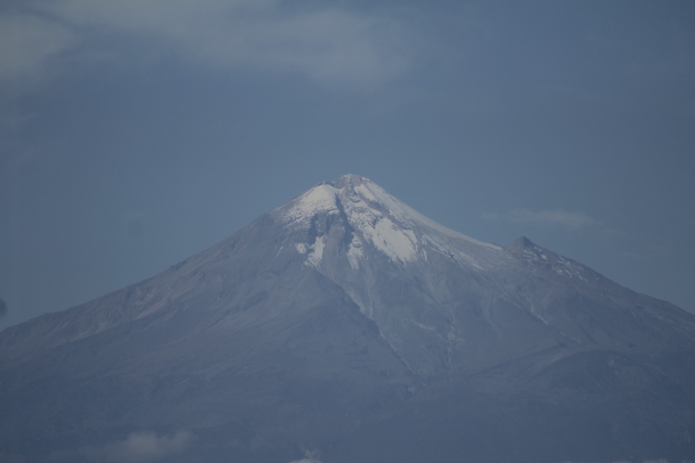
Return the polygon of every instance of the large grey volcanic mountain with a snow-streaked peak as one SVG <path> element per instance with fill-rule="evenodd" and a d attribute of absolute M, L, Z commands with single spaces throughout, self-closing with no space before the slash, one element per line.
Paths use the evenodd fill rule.
<path fill-rule="evenodd" d="M 695 460 L 695 316 L 366 178 L 0 333 L 0 461 Z"/>

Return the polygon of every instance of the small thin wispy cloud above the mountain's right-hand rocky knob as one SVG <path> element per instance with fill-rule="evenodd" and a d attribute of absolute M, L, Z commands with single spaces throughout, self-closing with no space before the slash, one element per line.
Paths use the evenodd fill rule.
<path fill-rule="evenodd" d="M 582 228 L 603 228 L 603 224 L 584 212 L 566 212 L 562 209 L 541 210 L 534 212 L 526 208 L 516 208 L 505 214 L 488 212 L 482 215 L 486 220 L 502 220 L 512 224 L 530 224 L 543 228 L 565 228 L 580 230 Z"/>

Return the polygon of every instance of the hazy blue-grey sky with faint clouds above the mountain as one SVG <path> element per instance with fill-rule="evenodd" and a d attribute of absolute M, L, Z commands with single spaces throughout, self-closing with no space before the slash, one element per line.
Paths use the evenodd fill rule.
<path fill-rule="evenodd" d="M 343 174 L 695 312 L 695 3 L 0 3 L 0 329 Z"/>

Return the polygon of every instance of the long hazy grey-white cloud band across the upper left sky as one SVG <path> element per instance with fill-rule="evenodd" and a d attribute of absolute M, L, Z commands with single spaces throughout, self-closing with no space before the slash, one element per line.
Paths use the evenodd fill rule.
<path fill-rule="evenodd" d="M 414 41 L 395 18 L 336 6 L 288 6 L 279 0 L 30 4 L 21 14 L 0 16 L 0 79 L 46 70 L 49 58 L 86 53 L 105 42 L 113 49 L 124 38 L 137 40 L 136 50 L 149 47 L 195 64 L 293 72 L 326 85 L 359 87 L 398 76 L 414 55 L 409 46 Z"/>

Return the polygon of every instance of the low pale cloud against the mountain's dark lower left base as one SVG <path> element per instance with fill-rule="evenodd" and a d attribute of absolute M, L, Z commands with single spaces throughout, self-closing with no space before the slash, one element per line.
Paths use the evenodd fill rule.
<path fill-rule="evenodd" d="M 109 463 L 147 463 L 181 453 L 190 444 L 190 432 L 179 431 L 172 436 L 154 432 L 131 432 L 126 439 L 102 447 L 83 447 L 81 455 L 88 461 Z"/>

